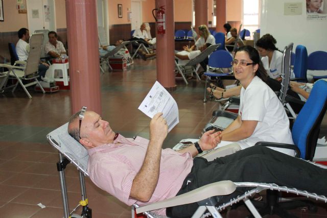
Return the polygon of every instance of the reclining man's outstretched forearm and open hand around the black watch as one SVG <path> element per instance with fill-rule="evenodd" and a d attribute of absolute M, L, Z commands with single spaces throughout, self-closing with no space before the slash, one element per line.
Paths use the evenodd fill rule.
<path fill-rule="evenodd" d="M 209 130 L 203 133 L 198 143 L 201 150 L 206 151 L 216 148 L 217 144 L 220 143 L 220 141 L 221 141 L 220 132 L 215 132 L 215 130 Z M 177 152 L 181 154 L 185 152 L 190 152 L 192 157 L 195 157 L 199 154 L 197 148 L 195 147 L 195 144 L 192 144 L 191 146 L 181 149 Z"/>

